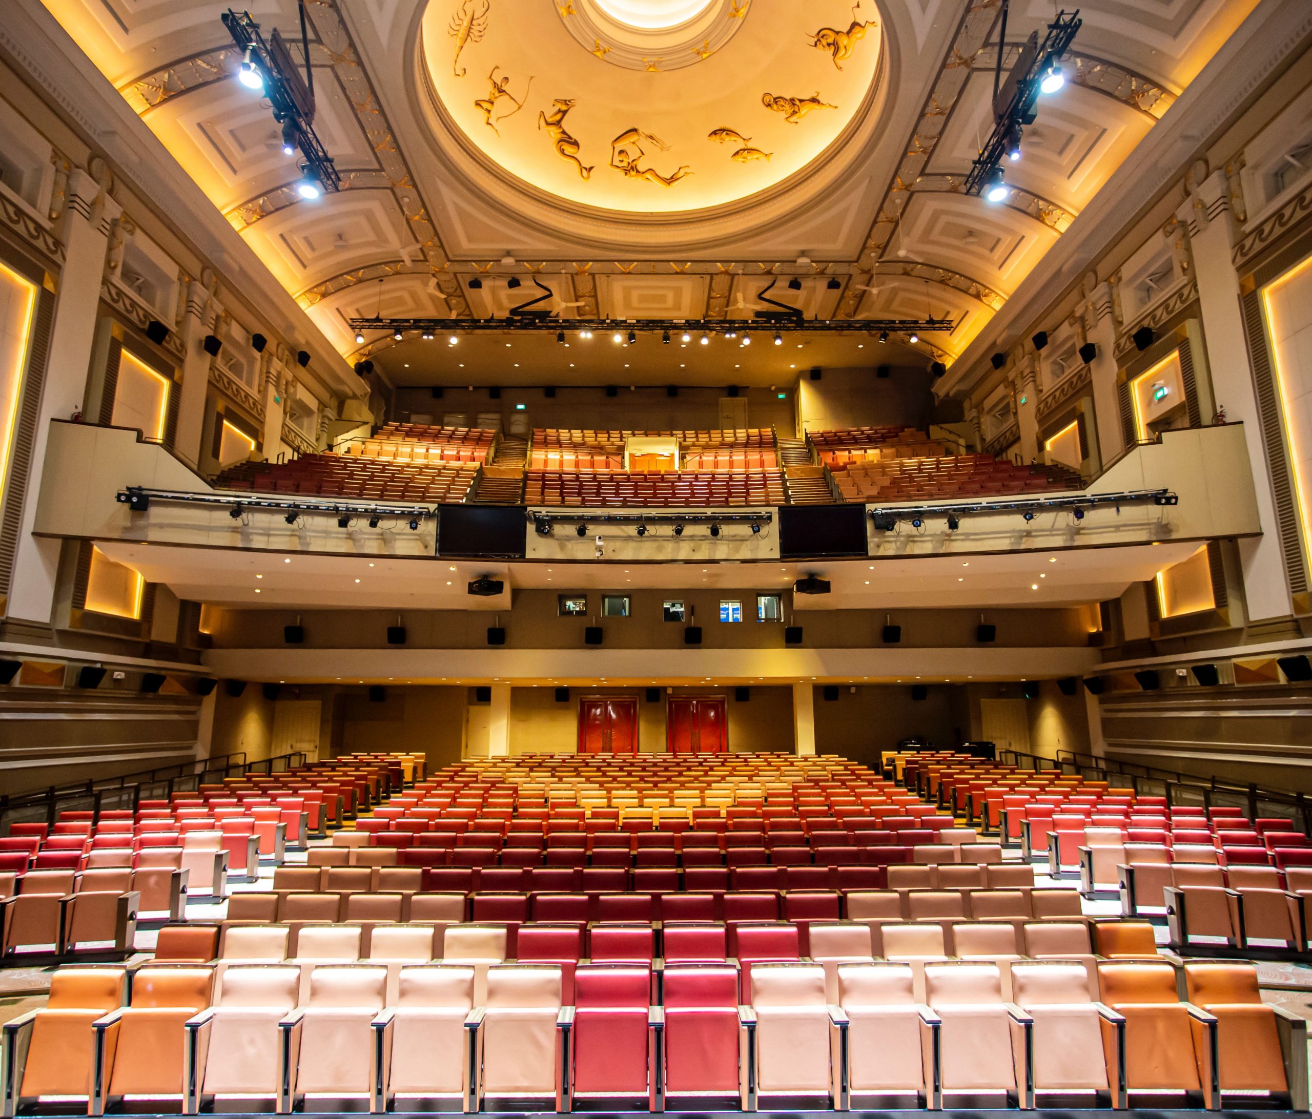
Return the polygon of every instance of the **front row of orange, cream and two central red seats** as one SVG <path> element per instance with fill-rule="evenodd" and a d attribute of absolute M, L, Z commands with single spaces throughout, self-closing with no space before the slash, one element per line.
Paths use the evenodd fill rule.
<path fill-rule="evenodd" d="M 5 1025 L 9 1106 L 1305 1107 L 1302 1021 L 1242 963 L 148 964 Z M 1292 1060 L 1291 1060 L 1292 1059 Z"/>

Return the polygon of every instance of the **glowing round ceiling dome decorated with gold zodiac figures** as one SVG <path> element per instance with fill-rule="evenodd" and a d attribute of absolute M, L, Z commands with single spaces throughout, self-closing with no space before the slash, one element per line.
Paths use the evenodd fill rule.
<path fill-rule="evenodd" d="M 430 0 L 421 29 L 466 142 L 521 184 L 642 214 L 803 171 L 866 110 L 880 45 L 872 0 Z"/>

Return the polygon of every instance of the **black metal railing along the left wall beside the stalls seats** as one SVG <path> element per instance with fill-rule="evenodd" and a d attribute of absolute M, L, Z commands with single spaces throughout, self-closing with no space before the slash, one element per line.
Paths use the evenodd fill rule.
<path fill-rule="evenodd" d="M 304 750 L 247 761 L 245 752 L 197 758 L 115 777 L 88 778 L 71 784 L 34 788 L 0 796 L 0 830 L 9 824 L 54 824 L 60 812 L 136 811 L 142 800 L 168 800 L 174 792 L 195 792 L 228 777 L 282 773 L 304 765 Z"/>

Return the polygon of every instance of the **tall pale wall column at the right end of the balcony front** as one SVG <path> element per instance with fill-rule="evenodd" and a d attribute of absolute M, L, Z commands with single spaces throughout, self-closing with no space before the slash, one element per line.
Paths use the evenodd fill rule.
<path fill-rule="evenodd" d="M 1193 180 L 1198 178 L 1200 176 L 1193 176 Z M 1231 262 L 1235 215 L 1231 210 L 1229 184 L 1225 172 L 1218 171 L 1200 181 L 1191 181 L 1189 190 L 1190 198 L 1178 216 L 1189 227 L 1194 253 L 1212 395 L 1216 407 L 1225 409 L 1227 420 L 1244 424 L 1244 441 L 1248 445 L 1257 513 L 1262 525 L 1261 537 L 1237 542 L 1248 618 L 1250 622 L 1284 618 L 1292 613 L 1294 606 L 1284 573 L 1284 556 L 1281 552 L 1271 471 L 1266 462 L 1248 341 L 1244 337 L 1239 275 Z"/>

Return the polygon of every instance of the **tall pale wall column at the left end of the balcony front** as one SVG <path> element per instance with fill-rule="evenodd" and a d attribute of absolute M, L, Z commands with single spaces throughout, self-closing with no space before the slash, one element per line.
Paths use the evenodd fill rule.
<path fill-rule="evenodd" d="M 46 463 L 50 421 L 67 420 L 81 411 L 96 338 L 100 286 L 105 275 L 109 226 L 119 206 L 109 197 L 110 176 L 98 159 L 92 172 L 75 169 L 68 176 L 68 197 L 55 234 L 64 245 L 64 266 L 50 331 L 46 384 L 37 416 L 37 434 L 28 471 L 26 498 L 9 584 L 8 615 L 49 624 L 55 605 L 55 576 L 60 540 L 31 535 L 37 518 L 37 495 Z"/>

